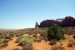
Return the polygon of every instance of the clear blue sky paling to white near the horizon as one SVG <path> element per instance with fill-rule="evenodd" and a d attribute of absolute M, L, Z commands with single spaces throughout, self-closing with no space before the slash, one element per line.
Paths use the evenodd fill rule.
<path fill-rule="evenodd" d="M 0 29 L 35 27 L 45 19 L 75 17 L 75 0 L 0 0 Z"/>

